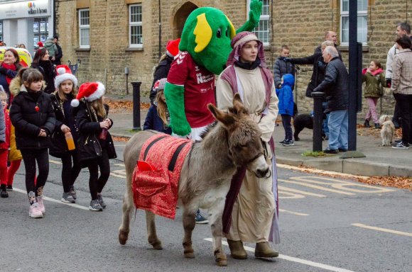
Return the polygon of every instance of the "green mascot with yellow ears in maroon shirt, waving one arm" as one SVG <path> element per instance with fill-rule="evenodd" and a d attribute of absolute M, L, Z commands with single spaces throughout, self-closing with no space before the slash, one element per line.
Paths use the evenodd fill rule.
<path fill-rule="evenodd" d="M 215 74 L 224 70 L 234 35 L 259 24 L 261 8 L 261 1 L 252 0 L 249 21 L 238 30 L 217 8 L 202 7 L 190 13 L 164 91 L 174 135 L 201 140 L 203 130 L 215 121 L 207 110 L 208 103 L 216 104 Z"/>

